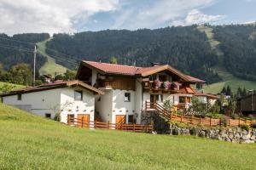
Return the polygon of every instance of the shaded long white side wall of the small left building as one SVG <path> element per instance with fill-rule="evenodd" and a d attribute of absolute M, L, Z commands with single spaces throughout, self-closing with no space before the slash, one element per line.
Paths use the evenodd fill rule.
<path fill-rule="evenodd" d="M 26 105 L 30 105 L 30 112 L 39 116 L 50 113 L 51 118 L 54 118 L 55 108 L 61 102 L 61 88 L 22 94 L 21 98 L 21 100 L 18 100 L 17 95 L 3 97 L 3 104 L 13 105 L 19 109 L 27 108 Z M 27 111 L 26 109 L 23 110 Z"/>

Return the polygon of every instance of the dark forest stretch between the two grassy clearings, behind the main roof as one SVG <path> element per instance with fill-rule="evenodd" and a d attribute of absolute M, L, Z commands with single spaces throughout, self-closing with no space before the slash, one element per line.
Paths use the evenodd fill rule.
<path fill-rule="evenodd" d="M 64 61 L 55 58 L 59 64 L 68 68 L 72 68 L 77 60 L 108 62 L 115 56 L 119 64 L 148 66 L 151 62 L 159 62 L 210 83 L 220 80 L 211 69 L 218 64 L 218 57 L 207 42 L 206 35 L 198 31 L 197 26 L 137 31 L 85 31 L 73 36 L 55 34 L 47 47 L 76 56 L 66 56 L 67 60 Z M 47 53 L 58 56 L 52 50 L 47 50 Z"/>

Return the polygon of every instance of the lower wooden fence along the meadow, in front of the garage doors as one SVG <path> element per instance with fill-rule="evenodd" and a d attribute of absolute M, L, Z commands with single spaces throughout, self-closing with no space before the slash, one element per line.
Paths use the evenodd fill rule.
<path fill-rule="evenodd" d="M 86 122 L 84 119 L 70 118 L 67 120 L 68 125 L 82 128 L 99 128 L 99 129 L 111 129 L 121 130 L 126 132 L 135 133 L 151 133 L 153 129 L 152 124 L 119 124 L 110 122 Z"/>

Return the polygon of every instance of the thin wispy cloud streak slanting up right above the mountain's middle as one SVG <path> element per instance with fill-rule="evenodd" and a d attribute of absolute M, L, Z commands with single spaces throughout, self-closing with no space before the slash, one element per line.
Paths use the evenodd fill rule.
<path fill-rule="evenodd" d="M 128 8 L 119 14 L 113 28 L 154 28 L 182 22 L 188 11 L 205 8 L 216 0 L 160 0 L 145 8 Z M 189 20 L 189 19 L 188 19 Z"/>

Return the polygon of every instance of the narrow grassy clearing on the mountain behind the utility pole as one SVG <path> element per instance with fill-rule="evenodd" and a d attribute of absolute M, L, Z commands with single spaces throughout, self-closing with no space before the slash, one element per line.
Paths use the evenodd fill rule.
<path fill-rule="evenodd" d="M 43 55 L 44 57 L 47 58 L 47 62 L 40 68 L 39 73 L 40 75 L 44 75 L 44 74 L 50 74 L 52 76 L 56 74 L 63 74 L 64 72 L 67 71 L 67 68 L 56 64 L 55 63 L 55 59 L 50 57 L 48 54 L 46 54 L 45 49 L 46 49 L 46 42 L 50 41 L 51 38 L 49 38 L 48 40 L 45 40 L 43 42 L 38 42 L 38 52 L 39 54 Z"/>

